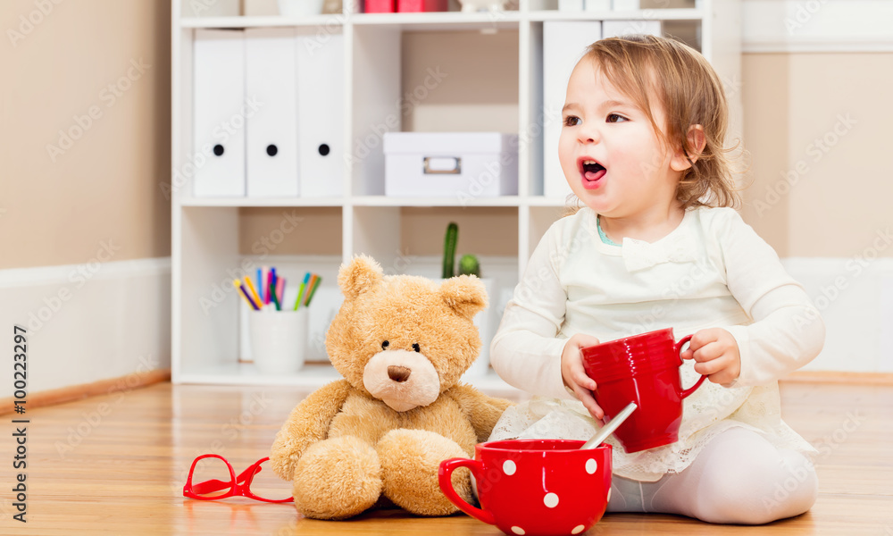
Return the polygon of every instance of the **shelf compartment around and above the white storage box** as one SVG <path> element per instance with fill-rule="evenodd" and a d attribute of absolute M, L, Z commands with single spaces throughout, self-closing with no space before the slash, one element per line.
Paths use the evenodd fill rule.
<path fill-rule="evenodd" d="M 518 131 L 518 31 L 357 25 L 352 36 L 354 196 L 384 194 L 386 132 Z"/>

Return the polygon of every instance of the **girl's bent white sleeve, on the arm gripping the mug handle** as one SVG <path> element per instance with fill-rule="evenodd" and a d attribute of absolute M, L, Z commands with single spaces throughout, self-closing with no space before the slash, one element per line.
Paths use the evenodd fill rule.
<path fill-rule="evenodd" d="M 728 326 L 741 356 L 741 372 L 728 387 L 776 381 L 812 361 L 822 350 L 825 326 L 803 287 L 784 270 L 775 251 L 738 213 L 718 218 L 729 289 L 753 318 Z"/>

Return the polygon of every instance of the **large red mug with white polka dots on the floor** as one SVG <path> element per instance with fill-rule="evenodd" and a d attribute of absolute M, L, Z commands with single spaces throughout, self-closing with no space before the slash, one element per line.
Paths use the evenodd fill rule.
<path fill-rule="evenodd" d="M 506 534 L 580 534 L 595 524 L 611 493 L 611 446 L 580 450 L 584 441 L 505 440 L 480 443 L 474 459 L 440 463 L 444 495 L 465 514 Z M 453 489 L 459 467 L 474 475 L 480 508 Z"/>

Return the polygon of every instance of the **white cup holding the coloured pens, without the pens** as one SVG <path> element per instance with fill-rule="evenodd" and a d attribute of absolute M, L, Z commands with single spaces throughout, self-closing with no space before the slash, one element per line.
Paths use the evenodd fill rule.
<path fill-rule="evenodd" d="M 296 373 L 304 366 L 307 308 L 297 311 L 251 311 L 248 314 L 251 356 L 262 373 Z"/>

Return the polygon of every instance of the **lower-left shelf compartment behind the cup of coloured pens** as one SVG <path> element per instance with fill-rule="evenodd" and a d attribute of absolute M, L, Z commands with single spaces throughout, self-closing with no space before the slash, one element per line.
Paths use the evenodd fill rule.
<path fill-rule="evenodd" d="M 257 268 L 276 266 L 287 278 L 287 302 L 305 272 L 322 275 L 313 297 L 306 360 L 327 361 L 324 336 L 340 306 L 338 268 L 342 262 L 340 207 L 190 206 L 182 214 L 182 239 L 174 258 L 180 265 L 174 289 L 174 381 L 189 371 L 236 366 L 246 351 L 248 306 L 232 281 L 255 279 Z"/>

